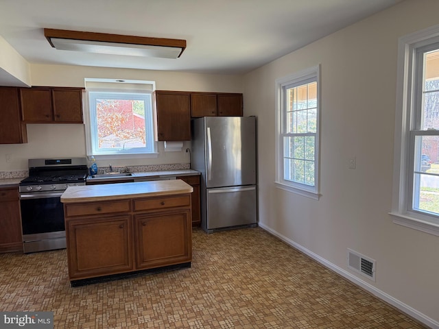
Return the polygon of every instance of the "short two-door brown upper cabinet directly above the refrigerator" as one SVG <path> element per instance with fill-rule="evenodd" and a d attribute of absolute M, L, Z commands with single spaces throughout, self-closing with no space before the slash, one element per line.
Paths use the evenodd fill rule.
<path fill-rule="evenodd" d="M 242 117 L 242 94 L 191 93 L 191 117 Z"/>

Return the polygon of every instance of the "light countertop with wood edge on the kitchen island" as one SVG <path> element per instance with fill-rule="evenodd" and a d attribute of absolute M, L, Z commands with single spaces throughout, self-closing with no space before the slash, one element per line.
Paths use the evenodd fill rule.
<path fill-rule="evenodd" d="M 159 180 L 121 184 L 69 186 L 61 195 L 64 204 L 95 202 L 134 197 L 156 197 L 192 193 L 193 188 L 182 180 Z"/>

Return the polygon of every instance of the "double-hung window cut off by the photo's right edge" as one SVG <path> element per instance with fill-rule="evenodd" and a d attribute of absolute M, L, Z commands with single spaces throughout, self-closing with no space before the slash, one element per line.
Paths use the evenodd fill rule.
<path fill-rule="evenodd" d="M 439 235 L 439 28 L 400 40 L 394 221 Z"/>

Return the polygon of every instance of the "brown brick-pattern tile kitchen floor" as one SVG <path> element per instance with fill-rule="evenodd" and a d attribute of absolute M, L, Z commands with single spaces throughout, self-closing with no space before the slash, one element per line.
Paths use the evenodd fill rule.
<path fill-rule="evenodd" d="M 189 269 L 75 288 L 65 249 L 1 254 L 0 310 L 55 328 L 424 328 L 261 228 L 194 229 Z"/>

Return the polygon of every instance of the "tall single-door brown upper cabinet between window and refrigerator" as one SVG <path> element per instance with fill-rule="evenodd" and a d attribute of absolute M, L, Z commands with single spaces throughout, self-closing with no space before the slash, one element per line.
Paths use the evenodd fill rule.
<path fill-rule="evenodd" d="M 156 90 L 153 97 L 157 121 L 156 141 L 190 141 L 189 93 Z"/>

